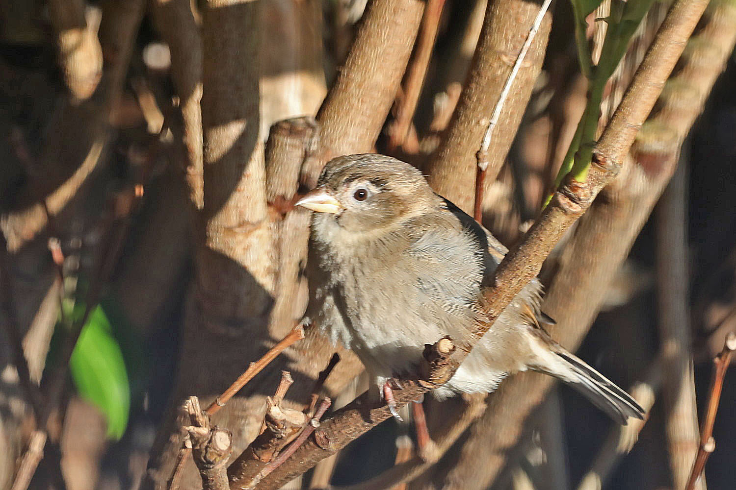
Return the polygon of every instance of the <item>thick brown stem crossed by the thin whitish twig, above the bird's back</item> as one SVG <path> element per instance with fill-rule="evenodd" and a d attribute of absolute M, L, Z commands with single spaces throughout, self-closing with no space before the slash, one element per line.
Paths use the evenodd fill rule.
<path fill-rule="evenodd" d="M 425 169 L 432 188 L 470 215 L 473 214 L 475 154 L 488 126 L 489 115 L 512 72 L 513 60 L 528 37 L 528 31 L 522 31 L 518 26 L 534 23 L 539 14 L 539 4 L 541 2 L 523 0 L 488 1 L 481 37 L 460 100 L 439 148 Z M 534 37 L 526 62 L 521 65 L 517 82 L 509 93 L 508 104 L 500 113 L 498 123 L 504 130 L 496 135 L 493 146 L 489 147 L 486 184 L 495 181 L 511 148 L 534 81 L 542 68 L 550 26 L 551 15 L 548 14 L 542 21 L 539 34 Z"/>

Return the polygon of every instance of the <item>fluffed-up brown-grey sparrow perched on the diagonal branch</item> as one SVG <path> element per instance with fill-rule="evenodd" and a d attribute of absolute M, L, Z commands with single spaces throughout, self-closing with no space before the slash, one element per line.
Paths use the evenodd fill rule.
<path fill-rule="evenodd" d="M 340 156 L 297 205 L 314 211 L 303 322 L 355 351 L 378 393 L 394 375 L 417 369 L 425 344 L 470 336 L 483 314 L 481 287 L 502 255 L 419 170 L 390 156 Z M 493 392 L 509 373 L 534 370 L 570 383 L 622 424 L 641 419 L 629 394 L 541 328 L 540 300 L 535 280 L 434 395 Z"/>

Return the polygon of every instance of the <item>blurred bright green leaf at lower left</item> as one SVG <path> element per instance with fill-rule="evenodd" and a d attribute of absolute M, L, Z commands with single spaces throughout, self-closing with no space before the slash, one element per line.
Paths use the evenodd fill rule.
<path fill-rule="evenodd" d="M 128 424 L 130 385 L 120 346 L 99 305 L 82 328 L 69 369 L 79 394 L 105 414 L 107 436 L 120 439 Z"/>

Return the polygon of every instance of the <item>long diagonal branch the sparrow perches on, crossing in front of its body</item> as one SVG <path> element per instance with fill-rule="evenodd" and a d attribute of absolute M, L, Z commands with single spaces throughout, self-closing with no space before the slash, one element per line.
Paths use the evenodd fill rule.
<path fill-rule="evenodd" d="M 631 85 L 636 90 L 629 89 L 626 93 L 611 123 L 596 145 L 595 161 L 591 165 L 587 181 L 581 183 L 567 180 L 555 193 L 550 205 L 545 208 L 545 212 L 530 228 L 523 241 L 506 254 L 495 270 L 494 284 L 484 292 L 488 322 L 479 325 L 473 331 L 474 342 L 488 331 L 503 309 L 528 281 L 537 275 L 542 261 L 562 234 L 590 206 L 604 185 L 618 173 L 638 129 L 657 101 L 661 87 L 672 71 L 679 54 L 682 53 L 684 43 L 693 32 L 706 5 L 707 2 L 704 0 L 679 0 L 673 5 L 653 46 L 634 76 Z M 439 365 L 428 372 L 429 377 L 423 378 L 425 380 L 423 383 L 407 381 L 405 389 L 396 394 L 397 408 L 406 405 L 409 400 L 415 400 L 419 394 L 436 386 L 436 383 L 442 383 L 451 377 L 464 357 L 470 353 L 474 342 L 464 342 L 458 345 L 457 349 L 453 345 L 453 349 L 447 352 L 440 341 L 434 345 L 434 350 L 425 351 L 425 356 L 430 356 L 428 360 L 439 361 Z M 366 405 L 367 413 L 364 411 L 361 414 L 357 410 L 356 407 L 361 402 Z M 291 464 L 284 465 L 274 473 L 275 476 L 261 482 L 262 488 L 278 488 L 314 466 L 317 461 L 341 449 L 350 440 L 378 425 L 388 418 L 389 414 L 389 408 L 386 406 L 368 405 L 365 395 L 358 398 L 325 422 L 325 425 L 329 425 L 318 433 L 319 442 L 316 439 L 308 441 L 297 451 L 297 456 L 290 461 Z"/>

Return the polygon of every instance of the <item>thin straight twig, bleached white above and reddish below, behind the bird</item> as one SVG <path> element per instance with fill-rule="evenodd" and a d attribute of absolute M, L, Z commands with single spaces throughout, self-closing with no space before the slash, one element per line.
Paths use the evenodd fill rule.
<path fill-rule="evenodd" d="M 514 63 L 514 68 L 512 68 L 511 73 L 509 73 L 509 78 L 506 79 L 506 84 L 503 85 L 503 90 L 501 90 L 500 96 L 498 96 L 498 102 L 496 102 L 496 107 L 495 109 L 493 109 L 491 119 L 488 121 L 486 133 L 483 135 L 481 148 L 478 150 L 478 153 L 475 154 L 475 158 L 478 160 L 478 169 L 475 173 L 475 205 L 473 206 L 473 217 L 475 217 L 475 220 L 478 221 L 478 223 L 481 222 L 482 218 L 481 204 L 483 203 L 483 184 L 486 176 L 486 170 L 488 169 L 488 148 L 491 145 L 493 130 L 498 123 L 498 118 L 500 118 L 501 111 L 503 110 L 503 105 L 506 104 L 506 98 L 509 97 L 512 84 L 514 84 L 514 79 L 516 79 L 517 73 L 519 73 L 519 69 L 524 62 L 526 53 L 529 51 L 531 42 L 534 40 L 534 36 L 537 35 L 537 31 L 539 31 L 539 26 L 542 25 L 542 20 L 544 20 L 545 14 L 547 13 L 547 10 L 551 3 L 552 0 L 545 0 L 545 3 L 543 3 L 542 7 L 539 8 L 539 14 L 537 15 L 537 18 L 534 19 L 534 24 L 531 24 L 531 29 L 529 29 L 529 34 L 526 36 L 526 41 L 524 41 L 524 45 L 521 47 L 521 51 L 519 51 L 519 56 Z"/>

